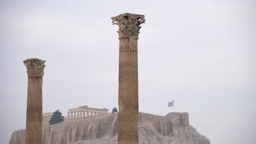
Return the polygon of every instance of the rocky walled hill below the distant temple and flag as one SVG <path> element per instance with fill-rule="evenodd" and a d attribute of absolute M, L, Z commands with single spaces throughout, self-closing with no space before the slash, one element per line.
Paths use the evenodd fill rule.
<path fill-rule="evenodd" d="M 44 144 L 117 144 L 117 114 L 84 117 L 74 122 L 43 126 Z M 10 144 L 25 144 L 25 130 L 14 131 Z M 139 144 L 210 144 L 189 125 L 188 113 L 156 116 L 139 113 Z"/>

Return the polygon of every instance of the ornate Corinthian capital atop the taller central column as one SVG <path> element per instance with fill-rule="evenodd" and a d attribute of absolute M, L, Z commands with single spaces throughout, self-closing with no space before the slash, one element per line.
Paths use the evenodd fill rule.
<path fill-rule="evenodd" d="M 113 25 L 118 25 L 119 38 L 120 37 L 136 37 L 138 38 L 139 29 L 142 23 L 145 23 L 144 15 L 137 14 L 120 14 L 111 17 Z"/>

